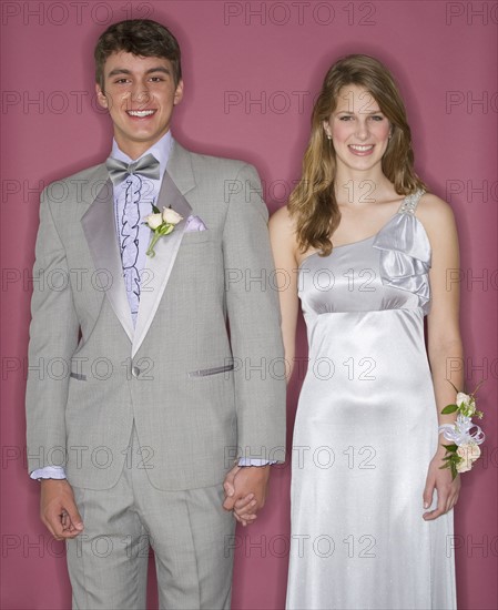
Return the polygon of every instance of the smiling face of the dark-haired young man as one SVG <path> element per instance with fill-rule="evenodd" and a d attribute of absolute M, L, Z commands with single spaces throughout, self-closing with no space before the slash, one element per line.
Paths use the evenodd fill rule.
<path fill-rule="evenodd" d="M 183 81 L 175 84 L 170 60 L 124 51 L 112 53 L 103 72 L 104 91 L 95 85 L 99 103 L 109 110 L 119 148 L 136 159 L 169 131 Z"/>

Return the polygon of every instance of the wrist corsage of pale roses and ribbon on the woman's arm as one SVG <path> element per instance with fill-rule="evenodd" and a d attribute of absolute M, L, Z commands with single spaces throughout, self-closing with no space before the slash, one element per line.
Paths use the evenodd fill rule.
<path fill-rule="evenodd" d="M 451 445 L 443 445 L 446 449 L 446 456 L 443 458 L 445 464 L 441 468 L 449 468 L 453 478 L 455 478 L 458 472 L 468 472 L 476 459 L 480 456 L 479 445 L 485 439 L 485 433 L 479 426 L 472 423 L 472 416 L 478 419 L 482 418 L 482 411 L 476 408 L 475 398 L 481 383 L 471 394 L 458 392 L 454 386 L 457 393 L 455 404 L 446 405 L 441 410 L 444 415 L 451 413 L 457 414 L 455 424 L 444 424 L 439 426 L 439 433 L 443 434 L 446 440 L 451 441 Z"/>

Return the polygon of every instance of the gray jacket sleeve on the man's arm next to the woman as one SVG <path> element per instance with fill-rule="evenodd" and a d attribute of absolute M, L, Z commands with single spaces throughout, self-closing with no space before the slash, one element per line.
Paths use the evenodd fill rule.
<path fill-rule="evenodd" d="M 234 357 L 238 457 L 285 459 L 285 366 L 268 212 L 255 169 L 225 184 L 225 292 Z"/>

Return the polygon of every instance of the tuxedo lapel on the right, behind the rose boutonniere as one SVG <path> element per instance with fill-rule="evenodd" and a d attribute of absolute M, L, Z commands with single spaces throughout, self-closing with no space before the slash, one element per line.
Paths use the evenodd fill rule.
<path fill-rule="evenodd" d="M 192 207 L 183 194 L 194 186 L 195 180 L 189 153 L 174 143 L 156 206 L 161 211 L 163 207 L 172 207 L 183 216 L 183 220 L 175 226 L 172 233 L 159 240 L 154 247 L 155 256 L 146 257 L 146 270 L 142 274 L 139 315 L 133 335 L 132 357 L 134 357 L 145 338 L 170 279 L 185 232 L 186 220 L 192 212 Z"/>

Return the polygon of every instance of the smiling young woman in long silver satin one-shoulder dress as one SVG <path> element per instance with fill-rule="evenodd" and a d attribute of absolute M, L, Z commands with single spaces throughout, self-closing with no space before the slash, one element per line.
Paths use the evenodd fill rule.
<path fill-rule="evenodd" d="M 457 232 L 414 171 L 405 106 L 377 60 L 328 70 L 302 180 L 271 235 L 287 363 L 298 299 L 309 344 L 287 608 L 455 608 L 446 543 L 460 482 L 440 468 L 438 424 L 454 419 L 440 411 L 455 401 L 448 358 L 463 353 L 458 289 L 446 282 Z"/>

